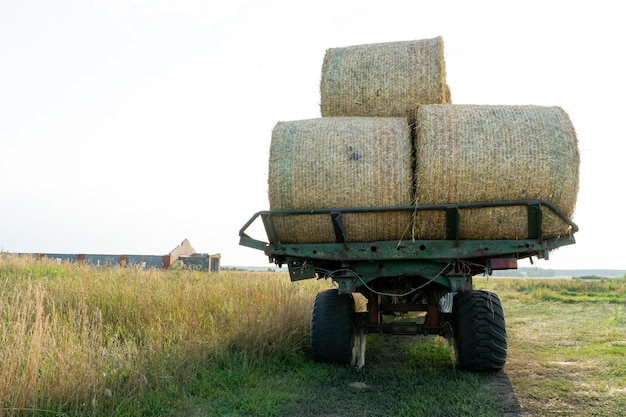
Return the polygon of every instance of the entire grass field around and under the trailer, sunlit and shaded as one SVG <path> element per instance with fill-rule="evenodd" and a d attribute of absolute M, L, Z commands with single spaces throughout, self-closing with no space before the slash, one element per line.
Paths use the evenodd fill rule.
<path fill-rule="evenodd" d="M 326 281 L 0 254 L 0 417 L 624 415 L 625 279 L 475 284 L 504 305 L 502 372 L 456 370 L 439 337 L 379 335 L 356 371 L 311 360 Z"/>

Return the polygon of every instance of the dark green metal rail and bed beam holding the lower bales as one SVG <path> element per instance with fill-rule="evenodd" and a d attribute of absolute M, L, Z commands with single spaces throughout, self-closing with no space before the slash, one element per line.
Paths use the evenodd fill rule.
<path fill-rule="evenodd" d="M 460 210 L 486 207 L 525 206 L 527 208 L 527 239 L 463 240 L 459 239 Z M 543 211 L 552 211 L 570 228 L 569 233 L 559 236 L 543 235 Z M 368 213 L 389 211 L 446 212 L 446 239 L 400 240 L 381 242 L 346 242 L 341 215 L 345 213 Z M 327 214 L 335 230 L 335 242 L 330 243 L 281 243 L 274 229 L 273 219 L 277 216 L 302 214 Z M 257 240 L 247 234 L 247 229 L 258 218 L 263 222 L 268 241 Z M 268 210 L 255 213 L 239 232 L 240 245 L 262 250 L 270 261 L 278 264 L 286 259 L 302 258 L 320 261 L 385 261 L 423 260 L 446 261 L 454 259 L 488 259 L 513 257 L 516 259 L 537 256 L 548 258 L 550 250 L 575 243 L 573 234 L 578 226 L 558 207 L 544 200 L 515 200 L 498 202 L 474 202 L 460 204 L 431 204 L 420 206 L 332 208 L 312 210 Z"/>

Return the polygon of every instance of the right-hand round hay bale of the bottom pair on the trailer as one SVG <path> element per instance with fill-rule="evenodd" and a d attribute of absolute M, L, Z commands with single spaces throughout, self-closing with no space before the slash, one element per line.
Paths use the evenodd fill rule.
<path fill-rule="evenodd" d="M 578 194 L 576 132 L 559 107 L 424 105 L 416 116 L 416 204 L 546 200 L 568 217 Z M 545 237 L 569 226 L 543 208 Z M 525 206 L 464 209 L 461 239 L 526 239 Z M 417 239 L 442 239 L 445 214 L 415 216 Z"/>

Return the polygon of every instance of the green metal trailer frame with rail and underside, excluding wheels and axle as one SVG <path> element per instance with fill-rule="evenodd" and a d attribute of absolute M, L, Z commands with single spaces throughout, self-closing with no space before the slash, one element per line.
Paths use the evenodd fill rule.
<path fill-rule="evenodd" d="M 526 239 L 459 239 L 460 210 L 505 206 L 527 208 L 528 236 Z M 544 236 L 543 208 L 552 211 L 568 224 L 570 233 L 561 236 Z M 446 212 L 446 239 L 379 242 L 346 242 L 345 240 L 341 221 L 343 214 L 389 211 L 413 213 L 424 210 Z M 335 242 L 281 243 L 276 234 L 273 219 L 278 216 L 302 214 L 327 214 L 335 231 Z M 253 239 L 247 234 L 248 228 L 259 218 L 265 227 L 267 242 Z M 262 250 L 269 257 L 270 262 L 277 265 L 287 264 L 293 281 L 313 278 L 320 271 L 324 273 L 324 271 L 346 269 L 350 272 L 345 277 L 341 274 L 332 275 L 332 278 L 340 285 L 342 282 L 344 285 L 365 285 L 379 277 L 421 276 L 449 288 L 450 279 L 440 276 L 446 265 L 463 261 L 466 265 L 470 265 L 471 274 L 476 274 L 485 272 L 485 269 L 489 270 L 491 261 L 494 259 L 523 259 L 532 256 L 548 259 L 551 250 L 574 244 L 573 235 L 577 231 L 578 226 L 550 202 L 516 200 L 421 206 L 259 211 L 241 228 L 239 244 Z M 356 284 L 353 274 L 357 274 L 359 278 Z"/>

